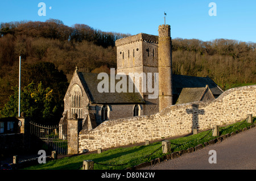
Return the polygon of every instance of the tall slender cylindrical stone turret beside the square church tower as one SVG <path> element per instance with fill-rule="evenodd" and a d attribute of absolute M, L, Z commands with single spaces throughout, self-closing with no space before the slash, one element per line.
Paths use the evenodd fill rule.
<path fill-rule="evenodd" d="M 171 27 L 158 27 L 158 71 L 159 71 L 159 111 L 172 103 L 172 41 Z"/>

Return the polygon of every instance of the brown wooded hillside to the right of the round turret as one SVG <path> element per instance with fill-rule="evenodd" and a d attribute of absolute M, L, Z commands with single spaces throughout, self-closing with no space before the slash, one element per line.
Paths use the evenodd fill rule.
<path fill-rule="evenodd" d="M 210 77 L 223 90 L 256 83 L 256 43 L 174 39 L 174 74 Z"/>

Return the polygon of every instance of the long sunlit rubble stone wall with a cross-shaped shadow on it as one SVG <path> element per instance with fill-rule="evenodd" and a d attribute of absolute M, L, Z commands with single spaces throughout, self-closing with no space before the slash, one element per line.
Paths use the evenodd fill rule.
<path fill-rule="evenodd" d="M 256 85 L 230 89 L 209 102 L 193 102 L 169 106 L 154 115 L 108 120 L 97 128 L 79 134 L 79 152 L 97 148 L 129 145 L 145 140 L 179 136 L 232 124 L 256 115 Z"/>

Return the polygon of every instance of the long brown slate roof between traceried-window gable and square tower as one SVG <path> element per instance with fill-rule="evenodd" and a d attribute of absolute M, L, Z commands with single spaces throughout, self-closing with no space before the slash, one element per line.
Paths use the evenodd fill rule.
<path fill-rule="evenodd" d="M 79 75 L 80 81 L 82 82 L 82 85 L 84 86 L 84 89 L 88 94 L 91 103 L 144 103 L 144 100 L 139 92 L 99 92 L 97 86 L 98 83 L 102 81 L 102 79 L 97 79 L 97 73 L 82 73 L 80 71 L 77 71 L 77 74 Z M 117 83 L 118 81 L 119 80 L 115 81 L 115 83 Z"/>

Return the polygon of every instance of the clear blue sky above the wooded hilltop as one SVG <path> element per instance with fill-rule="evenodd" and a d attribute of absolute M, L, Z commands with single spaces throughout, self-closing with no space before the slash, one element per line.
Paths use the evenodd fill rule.
<path fill-rule="evenodd" d="M 40 2 L 46 16 L 39 16 Z M 216 4 L 210 16 L 209 3 Z M 158 26 L 171 25 L 172 38 L 234 39 L 256 43 L 255 0 L 1 0 L 0 22 L 59 19 L 67 26 L 87 24 L 106 32 L 158 35 Z"/>

